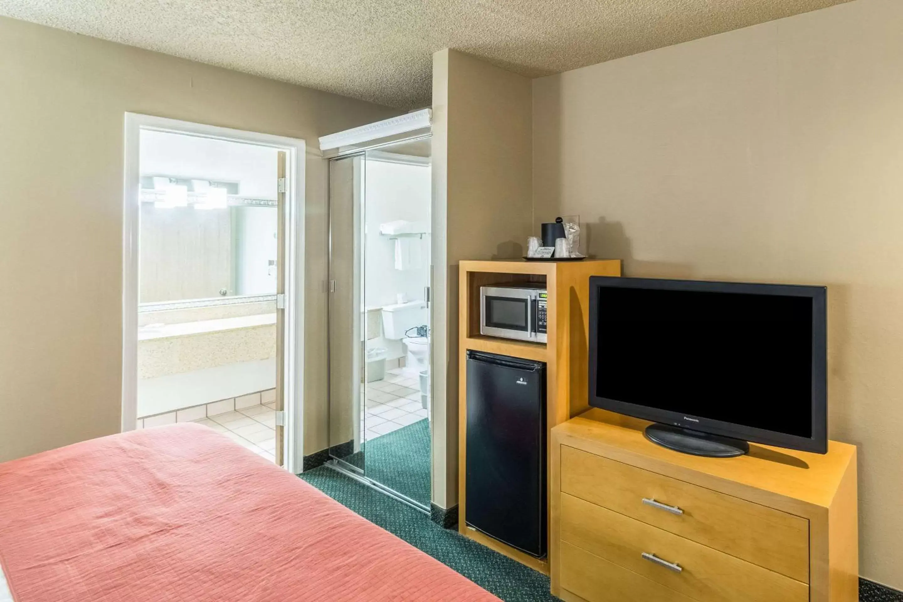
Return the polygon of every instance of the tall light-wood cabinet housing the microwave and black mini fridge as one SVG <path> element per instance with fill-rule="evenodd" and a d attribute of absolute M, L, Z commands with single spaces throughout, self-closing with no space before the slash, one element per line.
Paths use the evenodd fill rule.
<path fill-rule="evenodd" d="M 458 529 L 534 570 L 549 574 L 548 557 L 535 559 L 505 543 L 467 526 L 467 351 L 474 349 L 502 356 L 545 362 L 546 417 L 549 431 L 589 408 L 587 369 L 589 350 L 590 276 L 619 276 L 619 260 L 582 262 L 462 261 L 460 269 L 461 311 L 459 329 L 458 401 Z M 548 292 L 547 343 L 529 343 L 479 334 L 479 287 L 490 284 L 545 282 Z M 546 440 L 551 446 L 552 437 Z M 551 449 L 551 448 L 549 448 Z M 546 449 L 548 454 L 549 449 Z M 551 481 L 550 481 L 551 482 Z M 548 495 L 548 492 L 546 492 Z M 549 521 L 551 524 L 551 521 Z M 551 542 L 551 539 L 549 540 Z"/>

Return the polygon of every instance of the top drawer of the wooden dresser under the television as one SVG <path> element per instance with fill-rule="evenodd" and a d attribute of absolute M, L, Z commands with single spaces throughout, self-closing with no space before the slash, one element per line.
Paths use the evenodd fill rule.
<path fill-rule="evenodd" d="M 567 446 L 561 448 L 561 490 L 809 582 L 809 522 L 805 518 Z M 650 505 L 652 502 L 673 510 Z"/>

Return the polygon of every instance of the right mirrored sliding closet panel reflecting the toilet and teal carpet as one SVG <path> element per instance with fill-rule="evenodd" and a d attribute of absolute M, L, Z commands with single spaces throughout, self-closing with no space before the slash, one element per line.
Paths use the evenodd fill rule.
<path fill-rule="evenodd" d="M 364 473 L 429 507 L 430 140 L 364 163 Z"/>

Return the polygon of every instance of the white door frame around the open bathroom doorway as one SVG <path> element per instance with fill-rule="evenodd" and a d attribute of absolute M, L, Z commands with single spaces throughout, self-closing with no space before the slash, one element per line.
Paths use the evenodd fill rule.
<path fill-rule="evenodd" d="M 215 125 L 126 113 L 125 183 L 122 239 L 122 431 L 135 430 L 138 413 L 138 237 L 140 211 L 141 130 L 189 134 L 217 140 L 257 144 L 285 151 L 285 468 L 303 468 L 304 391 L 304 157 L 297 138 L 245 132 Z"/>

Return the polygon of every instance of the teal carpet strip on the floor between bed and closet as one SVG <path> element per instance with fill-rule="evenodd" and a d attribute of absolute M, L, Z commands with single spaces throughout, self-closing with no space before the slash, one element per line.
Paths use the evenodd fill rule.
<path fill-rule="evenodd" d="M 411 426 L 416 424 L 419 423 Z M 385 438 L 377 440 L 381 439 Z M 452 529 L 442 529 L 426 514 L 353 478 L 327 467 L 314 468 L 300 477 L 506 602 L 558 600 L 549 593 L 549 579 L 542 573 L 527 569 L 520 562 L 470 541 Z"/>

